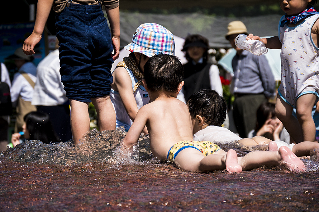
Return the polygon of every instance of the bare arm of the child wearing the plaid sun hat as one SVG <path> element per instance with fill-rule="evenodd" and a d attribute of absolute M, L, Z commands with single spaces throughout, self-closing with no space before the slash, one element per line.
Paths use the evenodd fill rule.
<path fill-rule="evenodd" d="M 132 121 L 135 120 L 138 108 L 132 91 L 132 80 L 124 67 L 117 67 L 113 73 L 114 89 L 119 92 L 123 106 Z M 144 134 L 148 134 L 145 127 Z"/>

